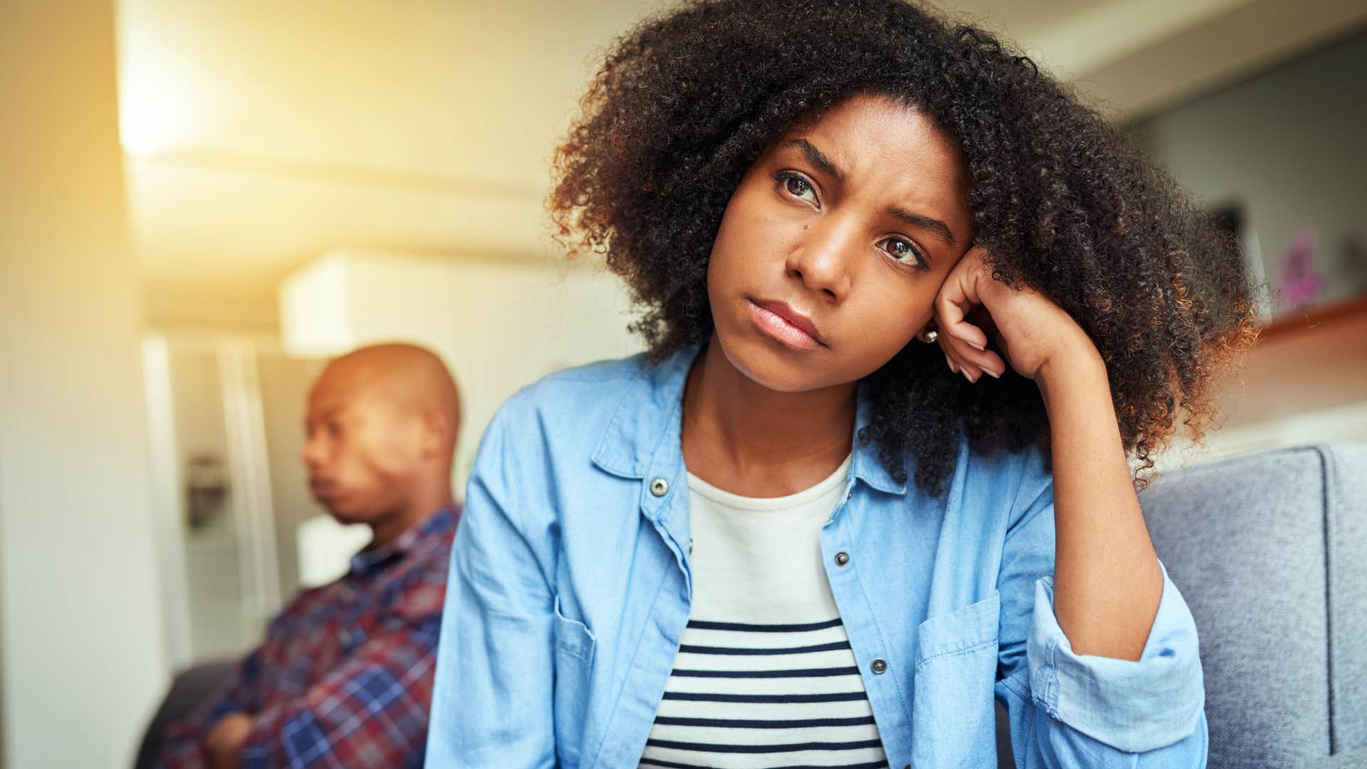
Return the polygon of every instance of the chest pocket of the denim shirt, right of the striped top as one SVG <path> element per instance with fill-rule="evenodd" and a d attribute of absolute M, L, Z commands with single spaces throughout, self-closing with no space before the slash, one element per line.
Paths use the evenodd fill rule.
<path fill-rule="evenodd" d="M 916 628 L 913 766 L 995 766 L 997 634 L 1001 594 Z"/>

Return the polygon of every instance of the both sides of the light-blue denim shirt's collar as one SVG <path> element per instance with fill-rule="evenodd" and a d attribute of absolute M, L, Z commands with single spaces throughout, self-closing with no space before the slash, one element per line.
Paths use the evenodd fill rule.
<path fill-rule="evenodd" d="M 619 478 L 663 478 L 675 483 L 684 465 L 682 417 L 684 384 L 697 359 L 701 345 L 690 345 L 664 361 L 642 363 L 637 376 L 626 386 L 622 401 L 614 409 L 593 452 L 593 464 Z M 854 406 L 854 456 L 850 475 L 871 488 L 886 494 L 906 494 L 906 483 L 898 483 L 878 457 L 876 443 L 861 443 L 860 431 L 869 424 L 874 405 L 863 382 Z M 653 504 L 652 504 L 653 502 Z M 659 502 L 663 502 L 660 499 Z M 642 498 L 648 508 L 659 502 Z"/>

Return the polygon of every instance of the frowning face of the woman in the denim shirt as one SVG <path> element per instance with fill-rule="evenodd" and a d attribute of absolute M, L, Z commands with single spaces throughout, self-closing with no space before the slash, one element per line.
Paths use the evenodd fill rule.
<path fill-rule="evenodd" d="M 953 140 L 876 96 L 785 134 L 741 179 L 712 245 L 707 293 L 727 360 L 787 393 L 879 369 L 972 245 L 966 177 Z"/>

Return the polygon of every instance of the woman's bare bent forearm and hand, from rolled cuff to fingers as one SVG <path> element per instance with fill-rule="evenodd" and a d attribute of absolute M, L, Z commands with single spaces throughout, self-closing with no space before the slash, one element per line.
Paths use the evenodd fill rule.
<path fill-rule="evenodd" d="M 1140 660 L 1163 595 L 1096 345 L 1053 300 L 992 281 L 975 246 L 935 297 L 936 342 L 977 382 L 1006 364 L 1039 386 L 1054 484 L 1054 616 L 1077 654 Z M 1002 350 L 979 349 L 987 341 Z"/>

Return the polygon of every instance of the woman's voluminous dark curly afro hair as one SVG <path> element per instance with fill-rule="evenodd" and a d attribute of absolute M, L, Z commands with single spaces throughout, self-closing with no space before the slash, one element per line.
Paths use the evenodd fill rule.
<path fill-rule="evenodd" d="M 1214 375 L 1256 339 L 1233 238 L 1094 109 L 991 34 L 904 0 L 694 0 L 618 40 L 555 153 L 556 242 L 603 255 L 644 316 L 653 360 L 712 331 L 707 261 L 750 164 L 853 93 L 930 116 L 962 152 L 975 242 L 992 275 L 1051 297 L 1106 361 L 1140 465 L 1176 420 L 1199 441 Z M 979 452 L 1042 449 L 1048 421 L 1014 372 L 969 386 L 915 341 L 867 378 L 876 442 L 899 482 L 947 490 L 958 431 Z M 1185 415 L 1180 415 L 1185 412 Z"/>

